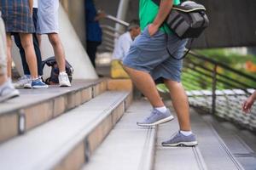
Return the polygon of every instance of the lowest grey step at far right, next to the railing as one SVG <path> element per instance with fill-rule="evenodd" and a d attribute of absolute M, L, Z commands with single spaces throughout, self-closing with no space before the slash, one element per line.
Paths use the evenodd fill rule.
<path fill-rule="evenodd" d="M 211 115 L 201 117 L 214 127 L 221 139 L 241 166 L 247 170 L 256 169 L 256 135 L 234 123 L 219 121 Z"/>

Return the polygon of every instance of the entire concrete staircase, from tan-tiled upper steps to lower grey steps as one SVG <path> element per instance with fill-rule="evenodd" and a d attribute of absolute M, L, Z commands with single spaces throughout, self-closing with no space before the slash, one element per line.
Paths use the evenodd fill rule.
<path fill-rule="evenodd" d="M 199 145 L 162 147 L 177 132 L 177 117 L 137 127 L 152 108 L 146 99 L 132 101 L 131 89 L 130 81 L 102 79 L 77 81 L 73 88 L 22 90 L 20 98 L 0 105 L 0 169 L 255 169 L 256 147 L 250 146 L 256 137 L 247 145 L 194 109 L 191 124 Z"/>

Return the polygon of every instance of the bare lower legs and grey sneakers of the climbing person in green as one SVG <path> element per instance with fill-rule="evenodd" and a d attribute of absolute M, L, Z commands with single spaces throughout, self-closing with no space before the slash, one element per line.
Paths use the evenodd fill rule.
<path fill-rule="evenodd" d="M 155 87 L 154 79 L 150 76 L 150 74 L 148 74 L 145 71 L 137 71 L 129 67 L 125 67 L 125 71 L 128 72 L 132 82 L 134 82 L 136 87 L 143 93 L 145 97 L 147 97 L 148 101 L 154 108 L 165 107 L 165 104 L 160 98 L 160 94 Z M 162 144 L 164 146 L 196 145 L 197 142 L 195 140 L 194 134 L 191 133 L 191 125 L 189 121 L 189 102 L 182 83 L 165 79 L 165 84 L 170 91 L 170 97 L 172 99 L 173 108 L 177 113 L 177 120 L 179 123 L 180 131 L 175 136 L 176 138 L 167 140 Z M 152 120 L 150 120 L 150 118 L 152 118 L 152 115 L 150 115 L 148 118 L 146 118 L 143 122 L 137 122 L 137 125 L 145 127 L 155 126 L 160 123 L 171 121 L 173 119 L 173 116 L 166 115 L 162 119 L 158 119 L 157 117 L 155 117 Z M 189 137 L 189 140 L 177 140 L 177 138 L 180 138 L 180 135 L 183 135 L 180 132 L 183 132 L 183 134 L 187 133 L 186 137 Z"/>

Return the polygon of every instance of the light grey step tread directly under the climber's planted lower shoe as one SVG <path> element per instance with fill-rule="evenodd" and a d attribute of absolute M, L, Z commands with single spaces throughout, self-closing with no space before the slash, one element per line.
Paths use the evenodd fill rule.
<path fill-rule="evenodd" d="M 177 116 L 172 108 L 171 111 L 175 119 L 158 127 L 154 170 L 207 170 L 207 165 L 198 146 L 163 147 L 161 145 L 179 129 Z"/>

